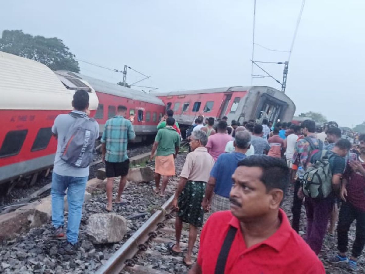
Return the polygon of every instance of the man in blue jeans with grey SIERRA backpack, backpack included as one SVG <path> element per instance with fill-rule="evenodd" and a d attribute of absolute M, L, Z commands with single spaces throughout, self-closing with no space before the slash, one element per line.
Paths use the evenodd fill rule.
<path fill-rule="evenodd" d="M 52 133 L 58 141 L 51 187 L 54 237 L 65 235 L 64 197 L 67 190 L 69 245 L 65 251 L 70 254 L 74 252 L 74 245 L 77 243 L 89 164 L 93 160 L 95 140 L 99 137 L 98 123 L 86 114 L 89 107 L 88 92 L 76 91 L 72 106 L 73 111 L 69 114 L 59 114 L 52 126 Z"/>

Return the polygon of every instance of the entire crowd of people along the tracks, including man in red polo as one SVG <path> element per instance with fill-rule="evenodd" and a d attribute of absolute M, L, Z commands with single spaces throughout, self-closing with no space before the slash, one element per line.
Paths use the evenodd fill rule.
<path fill-rule="evenodd" d="M 59 115 L 52 127 L 58 137 L 51 191 L 54 236 L 64 236 L 67 189 L 66 236 L 71 251 L 77 243 L 89 173 L 85 144 L 99 135 L 99 126 L 87 116 L 88 99 L 87 92 L 77 91 L 72 113 Z M 75 121 L 81 121 L 80 126 L 68 137 Z M 176 174 L 174 159 L 182 138 L 172 110 L 157 128 L 150 159 L 155 159 L 155 193 L 164 196 L 169 177 Z M 312 120 L 301 125 L 273 125 L 267 119 L 240 125 L 233 120 L 227 125 L 227 117 L 215 121 L 199 116 L 187 130 L 191 152 L 174 194 L 176 242 L 168 244 L 169 251 L 182 253 L 181 232 L 187 222 L 188 250 L 183 263 L 192 266 L 190 273 L 241 273 L 242 269 L 245 273 L 325 273 L 317 255 L 326 233 L 334 235 L 337 229 L 338 252 L 330 262 L 357 270 L 365 244 L 365 134 L 356 136 L 347 140 L 337 124 L 319 129 Z M 129 168 L 127 143 L 133 138 L 126 108 L 120 106 L 118 114 L 105 123 L 101 137 L 107 212 L 112 209 L 112 186 L 118 176 L 115 203 L 123 203 Z M 75 148 L 76 155 L 65 158 L 69 148 Z M 294 189 L 291 225 L 280 208 L 288 187 Z M 307 229 L 302 238 L 298 233 L 303 204 Z M 212 215 L 203 227 L 207 212 Z M 356 239 L 348 257 L 348 233 L 354 220 Z M 199 254 L 193 262 L 200 227 Z"/>

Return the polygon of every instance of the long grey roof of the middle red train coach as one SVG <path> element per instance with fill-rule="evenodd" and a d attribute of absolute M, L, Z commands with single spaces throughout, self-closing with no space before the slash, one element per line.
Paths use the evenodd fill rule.
<path fill-rule="evenodd" d="M 56 71 L 56 73 L 60 73 L 62 75 L 67 74 L 69 76 L 84 79 L 91 85 L 91 87 L 96 92 L 111 94 L 111 95 L 120 96 L 120 97 L 124 97 L 124 98 L 128 98 L 128 99 L 132 99 L 132 100 L 138 100 L 138 101 L 142 101 L 142 102 L 146 102 L 146 103 L 152 103 L 152 104 L 158 104 L 158 105 L 164 106 L 164 103 L 162 102 L 162 100 L 160 98 L 157 98 L 154 95 L 146 94 L 139 90 L 133 90 L 131 88 L 124 87 L 122 85 L 110 83 L 110 82 L 96 79 L 96 78 L 93 78 L 93 77 L 90 77 L 87 75 L 82 75 L 82 74 L 76 73 L 76 72 Z"/>

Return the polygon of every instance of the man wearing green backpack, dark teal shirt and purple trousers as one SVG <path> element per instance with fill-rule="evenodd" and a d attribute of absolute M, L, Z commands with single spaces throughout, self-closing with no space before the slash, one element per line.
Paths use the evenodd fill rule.
<path fill-rule="evenodd" d="M 340 139 L 331 151 L 320 150 L 312 155 L 302 179 L 307 214 L 306 241 L 318 255 L 332 210 L 333 195 L 338 195 L 345 157 L 351 148 L 346 139 Z"/>

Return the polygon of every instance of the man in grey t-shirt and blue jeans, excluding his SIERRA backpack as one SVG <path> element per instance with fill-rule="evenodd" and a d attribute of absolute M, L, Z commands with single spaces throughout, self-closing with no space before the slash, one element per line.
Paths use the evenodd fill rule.
<path fill-rule="evenodd" d="M 87 91 L 78 90 L 75 92 L 72 101 L 74 113 L 87 115 L 89 107 L 89 95 Z M 74 244 L 77 243 L 78 229 L 81 221 L 82 203 L 89 176 L 89 167 L 77 168 L 61 159 L 61 149 L 64 146 L 65 136 L 76 119 L 69 114 L 60 114 L 54 120 L 52 133 L 56 136 L 57 152 L 54 159 L 52 175 L 52 224 L 54 227 L 54 237 L 63 237 L 64 234 L 64 197 L 67 190 L 67 201 L 69 204 L 66 252 L 74 252 Z M 99 125 L 95 121 L 95 135 L 99 136 Z"/>

